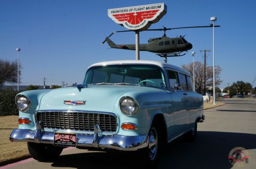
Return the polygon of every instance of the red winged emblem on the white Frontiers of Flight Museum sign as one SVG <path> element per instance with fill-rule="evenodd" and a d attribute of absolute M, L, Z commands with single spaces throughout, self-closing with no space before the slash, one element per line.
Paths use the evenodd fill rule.
<path fill-rule="evenodd" d="M 124 14 L 114 14 L 113 16 L 120 22 L 127 21 L 131 24 L 139 24 L 144 19 L 153 18 L 159 10 L 143 11 L 143 12 L 131 12 Z"/>

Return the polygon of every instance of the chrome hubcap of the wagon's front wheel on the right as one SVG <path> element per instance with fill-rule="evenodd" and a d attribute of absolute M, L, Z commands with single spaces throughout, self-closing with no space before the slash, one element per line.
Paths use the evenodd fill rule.
<path fill-rule="evenodd" d="M 154 160 L 157 154 L 157 130 L 153 127 L 148 138 L 148 154 Z"/>

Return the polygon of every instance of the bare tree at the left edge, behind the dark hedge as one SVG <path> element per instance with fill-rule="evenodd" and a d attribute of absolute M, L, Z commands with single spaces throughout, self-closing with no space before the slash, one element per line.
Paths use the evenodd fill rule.
<path fill-rule="evenodd" d="M 20 75 L 19 65 L 19 75 Z M 17 82 L 18 76 L 18 63 L 17 61 L 9 62 L 0 59 L 0 86 L 4 85 L 5 82 L 15 83 Z M 20 79 L 20 76 L 19 76 Z"/>

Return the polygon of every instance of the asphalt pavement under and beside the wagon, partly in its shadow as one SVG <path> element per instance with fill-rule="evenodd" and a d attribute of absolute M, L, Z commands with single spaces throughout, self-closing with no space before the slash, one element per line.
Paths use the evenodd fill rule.
<path fill-rule="evenodd" d="M 235 147 L 249 152 L 249 163 L 242 168 L 256 168 L 256 101 L 222 101 L 226 105 L 204 111 L 206 121 L 199 123 L 195 142 L 178 138 L 166 146 L 158 168 L 231 168 L 228 154 Z M 73 148 L 51 163 L 30 160 L 11 168 L 136 168 L 135 158 L 139 157 Z"/>

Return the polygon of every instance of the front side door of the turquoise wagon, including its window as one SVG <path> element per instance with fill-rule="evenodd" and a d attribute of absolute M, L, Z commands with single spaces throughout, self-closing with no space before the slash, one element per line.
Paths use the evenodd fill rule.
<path fill-rule="evenodd" d="M 169 112 L 169 117 L 172 117 L 172 123 L 169 123 L 168 136 L 169 139 L 181 134 L 187 129 L 188 125 L 188 110 L 186 91 L 183 89 L 175 90 L 175 83 L 180 83 L 178 72 L 175 70 L 166 70 L 169 78 L 169 94 L 172 99 L 172 110 Z M 182 80 L 182 79 L 181 79 Z"/>

